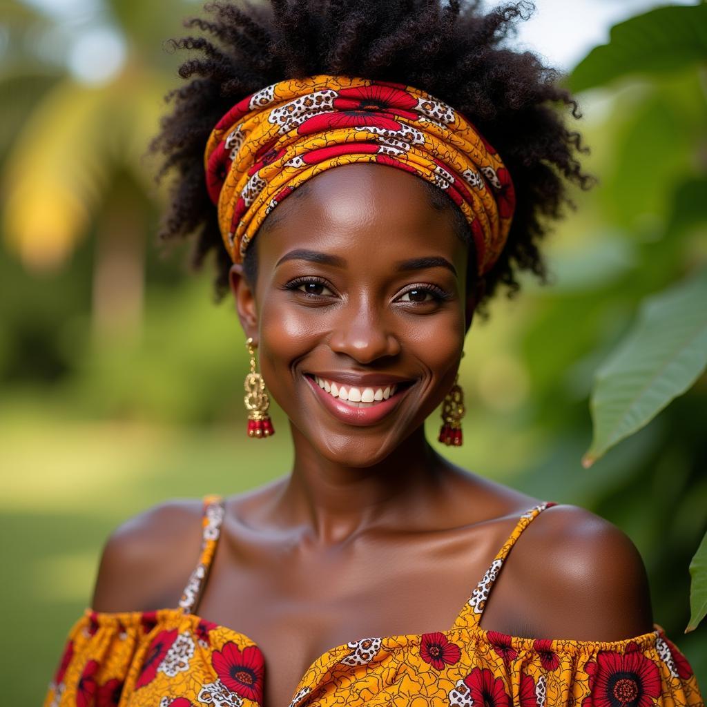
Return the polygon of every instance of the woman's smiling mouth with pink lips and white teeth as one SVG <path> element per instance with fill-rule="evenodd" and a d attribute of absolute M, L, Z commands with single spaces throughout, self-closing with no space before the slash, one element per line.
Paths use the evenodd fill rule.
<path fill-rule="evenodd" d="M 305 375 L 305 380 L 324 407 L 340 421 L 355 426 L 378 423 L 397 408 L 412 384 L 412 381 L 402 378 L 393 380 L 377 376 L 374 380 L 371 376 L 367 380 L 359 376 L 356 382 L 361 382 L 353 385 L 349 382 L 349 375 L 338 374 L 337 378 Z M 366 385 L 366 382 L 370 382 L 370 385 Z"/>

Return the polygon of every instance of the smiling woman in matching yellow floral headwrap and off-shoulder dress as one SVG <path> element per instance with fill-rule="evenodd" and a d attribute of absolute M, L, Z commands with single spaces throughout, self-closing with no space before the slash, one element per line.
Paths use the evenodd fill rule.
<path fill-rule="evenodd" d="M 270 436 L 272 395 L 295 460 L 119 528 L 47 704 L 703 704 L 625 534 L 424 436 L 443 403 L 461 442 L 474 312 L 542 274 L 540 217 L 589 182 L 548 108 L 574 101 L 498 46 L 522 10 L 271 0 L 188 23 L 218 43 L 177 42 L 201 54 L 156 141 L 164 235 L 216 250 L 248 432 Z"/>

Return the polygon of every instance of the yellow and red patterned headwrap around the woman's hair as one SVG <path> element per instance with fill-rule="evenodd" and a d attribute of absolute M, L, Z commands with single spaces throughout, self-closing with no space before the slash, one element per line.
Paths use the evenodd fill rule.
<path fill-rule="evenodd" d="M 503 250 L 515 192 L 496 150 L 452 107 L 419 88 L 319 74 L 279 81 L 246 96 L 206 144 L 209 195 L 233 262 L 267 214 L 332 167 L 377 162 L 443 189 L 460 206 L 479 274 Z"/>

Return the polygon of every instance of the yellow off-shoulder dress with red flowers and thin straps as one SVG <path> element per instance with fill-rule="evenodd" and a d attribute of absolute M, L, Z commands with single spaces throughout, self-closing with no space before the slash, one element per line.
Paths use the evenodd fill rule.
<path fill-rule="evenodd" d="M 45 707 L 265 707 L 264 658 L 255 642 L 192 613 L 223 519 L 221 499 L 204 505 L 201 558 L 180 606 L 86 609 L 69 633 Z M 508 552 L 552 505 L 521 516 L 448 631 L 332 648 L 305 672 L 290 707 L 703 707 L 689 662 L 658 624 L 623 641 L 537 640 L 481 629 Z"/>

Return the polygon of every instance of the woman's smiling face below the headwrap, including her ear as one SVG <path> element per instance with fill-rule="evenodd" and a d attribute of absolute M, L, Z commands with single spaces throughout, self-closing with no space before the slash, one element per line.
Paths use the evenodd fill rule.
<path fill-rule="evenodd" d="M 255 291 L 242 267 L 231 278 L 267 388 L 320 455 L 380 462 L 459 365 L 473 303 L 452 209 L 419 177 L 363 163 L 313 177 L 268 218 Z"/>

